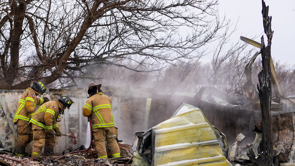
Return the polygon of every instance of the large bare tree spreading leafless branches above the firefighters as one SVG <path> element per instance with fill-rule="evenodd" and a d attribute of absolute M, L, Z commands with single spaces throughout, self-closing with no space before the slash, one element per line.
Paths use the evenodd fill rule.
<path fill-rule="evenodd" d="M 2 89 L 82 78 L 89 65 L 151 72 L 199 58 L 228 24 L 219 20 L 217 5 L 214 0 L 1 1 Z M 137 65 L 120 63 L 124 59 Z"/>

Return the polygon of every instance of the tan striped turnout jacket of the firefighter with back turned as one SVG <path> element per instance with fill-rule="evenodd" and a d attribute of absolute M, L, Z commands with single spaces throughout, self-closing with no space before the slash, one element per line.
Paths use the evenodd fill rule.
<path fill-rule="evenodd" d="M 113 127 L 112 101 L 102 93 L 89 97 L 83 107 L 83 116 L 92 117 L 92 128 Z"/>

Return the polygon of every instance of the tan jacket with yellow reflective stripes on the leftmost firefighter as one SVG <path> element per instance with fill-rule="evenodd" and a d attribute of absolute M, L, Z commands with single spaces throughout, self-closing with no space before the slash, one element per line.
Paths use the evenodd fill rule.
<path fill-rule="evenodd" d="M 42 98 L 37 98 L 37 95 L 38 93 L 32 88 L 25 90 L 21 99 L 18 101 L 18 106 L 13 118 L 14 123 L 16 123 L 18 119 L 30 121 L 30 118 L 35 113 L 36 105 L 41 105 L 44 102 Z"/>

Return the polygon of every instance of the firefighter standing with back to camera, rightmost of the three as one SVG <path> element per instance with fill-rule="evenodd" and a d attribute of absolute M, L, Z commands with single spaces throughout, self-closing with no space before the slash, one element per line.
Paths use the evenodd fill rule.
<path fill-rule="evenodd" d="M 98 158 L 108 158 L 105 141 L 111 157 L 120 157 L 120 148 L 116 141 L 116 128 L 112 115 L 111 99 L 100 89 L 101 84 L 92 83 L 88 87 L 89 99 L 83 107 L 83 116 L 92 118 L 94 146 Z"/>

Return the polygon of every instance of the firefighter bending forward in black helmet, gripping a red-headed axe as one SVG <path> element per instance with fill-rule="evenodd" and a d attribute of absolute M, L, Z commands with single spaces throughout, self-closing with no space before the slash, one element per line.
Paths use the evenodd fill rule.
<path fill-rule="evenodd" d="M 33 152 L 32 160 L 39 161 L 43 146 L 45 155 L 53 155 L 55 146 L 55 138 L 53 131 L 57 136 L 61 136 L 61 132 L 56 122 L 60 121 L 61 114 L 64 114 L 66 108 L 70 108 L 73 101 L 69 97 L 57 97 L 58 100 L 49 101 L 41 105 L 34 113 L 30 120 L 33 128 Z"/>

